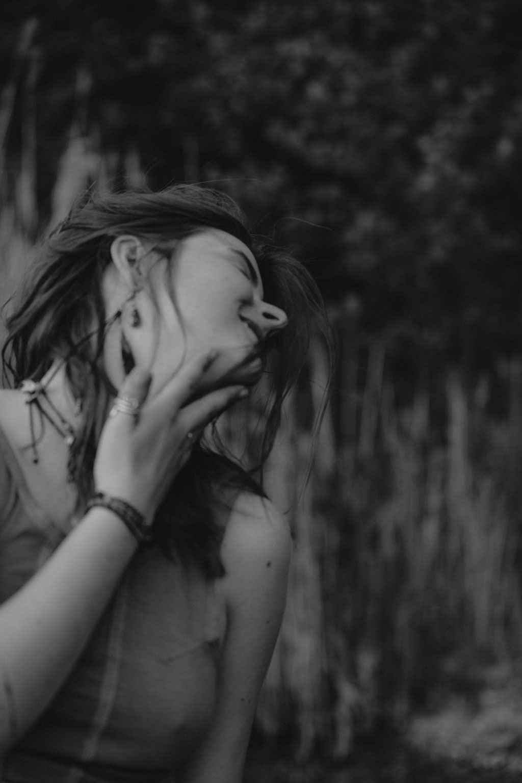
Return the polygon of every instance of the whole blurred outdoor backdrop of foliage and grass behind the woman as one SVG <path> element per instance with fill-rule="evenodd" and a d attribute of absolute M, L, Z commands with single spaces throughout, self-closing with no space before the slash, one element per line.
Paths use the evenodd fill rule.
<path fill-rule="evenodd" d="M 520 4 L 1 0 L 0 90 L 2 301 L 86 186 L 142 182 L 231 194 L 326 298 L 248 781 L 519 779 Z"/>

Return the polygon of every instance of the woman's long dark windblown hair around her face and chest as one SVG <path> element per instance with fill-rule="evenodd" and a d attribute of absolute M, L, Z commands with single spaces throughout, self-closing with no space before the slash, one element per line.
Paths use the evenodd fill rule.
<path fill-rule="evenodd" d="M 83 429 L 73 446 L 79 507 L 92 492 L 99 433 L 116 391 L 102 362 L 109 326 L 102 280 L 110 264 L 110 246 L 117 236 L 132 233 L 169 257 L 180 241 L 204 229 L 221 229 L 250 248 L 261 272 L 265 301 L 283 309 L 289 318 L 287 327 L 263 346 L 268 380 L 263 387 L 258 467 L 272 449 L 283 400 L 297 381 L 316 335 L 331 358 L 329 323 L 315 282 L 290 254 L 251 233 L 243 212 L 229 197 L 200 186 L 103 196 L 89 193 L 38 248 L 16 309 L 7 319 L 8 337 L 2 350 L 4 375 L 14 386 L 25 379 L 40 380 L 56 356 L 65 362 L 67 379 L 83 403 Z M 153 526 L 166 554 L 188 557 L 209 577 L 222 574 L 223 514 L 216 509 L 227 506 L 226 487 L 232 493 L 241 488 L 262 491 L 256 474 L 232 460 L 218 439 L 213 447 L 198 445 L 173 482 Z"/>

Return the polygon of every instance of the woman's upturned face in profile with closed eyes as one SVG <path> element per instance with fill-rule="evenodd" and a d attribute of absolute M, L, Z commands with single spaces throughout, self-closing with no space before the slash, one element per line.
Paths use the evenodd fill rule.
<path fill-rule="evenodd" d="M 212 348 L 219 354 L 201 388 L 218 384 L 268 334 L 287 323 L 283 310 L 263 301 L 252 252 L 218 229 L 189 236 L 171 260 L 153 262 L 147 286 L 134 300 L 139 327 L 124 330 L 136 363 L 152 372 L 150 393 L 159 391 L 182 362 Z M 236 370 L 230 382 L 254 383 L 260 370 L 261 362 L 253 360 Z"/>

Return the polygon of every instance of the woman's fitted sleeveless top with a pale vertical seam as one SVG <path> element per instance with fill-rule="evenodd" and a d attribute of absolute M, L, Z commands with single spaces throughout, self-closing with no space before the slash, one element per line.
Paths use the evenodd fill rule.
<path fill-rule="evenodd" d="M 0 603 L 70 530 L 31 496 L 0 429 Z M 225 602 L 196 567 L 139 550 L 1 783 L 175 783 L 212 719 Z"/>

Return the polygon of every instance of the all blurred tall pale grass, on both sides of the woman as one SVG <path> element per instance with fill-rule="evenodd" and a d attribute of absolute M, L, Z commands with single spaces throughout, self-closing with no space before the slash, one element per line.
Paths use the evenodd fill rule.
<path fill-rule="evenodd" d="M 20 57 L 24 46 L 26 38 Z M 2 301 L 16 289 L 35 227 L 45 229 L 34 197 L 34 84 L 31 69 L 23 84 L 20 72 L 0 106 L 5 139 L 13 95 L 27 93 L 27 138 L 0 182 Z M 85 79 L 79 82 L 84 89 Z M 135 153 L 99 153 L 80 128 L 75 119 L 52 223 L 94 181 L 108 188 L 118 172 L 142 179 Z M 5 145 L 0 153 L 5 161 Z M 439 379 L 441 414 L 432 410 L 429 388 L 398 405 L 385 342 L 363 345 L 349 313 L 340 337 L 335 404 L 315 451 L 299 406 L 308 397 L 319 410 L 326 385 L 319 345 L 299 394 L 286 402 L 266 478 L 268 494 L 287 514 L 294 552 L 257 720 L 268 734 L 290 735 L 301 760 L 315 749 L 346 756 L 358 732 L 381 716 L 400 723 L 433 703 L 448 672 L 465 676 L 481 661 L 513 662 L 522 643 L 522 363 L 505 368 L 510 402 L 502 420 L 488 413 L 487 383 L 470 394 L 457 371 Z"/>

